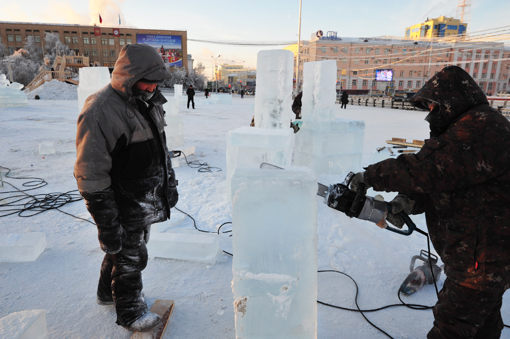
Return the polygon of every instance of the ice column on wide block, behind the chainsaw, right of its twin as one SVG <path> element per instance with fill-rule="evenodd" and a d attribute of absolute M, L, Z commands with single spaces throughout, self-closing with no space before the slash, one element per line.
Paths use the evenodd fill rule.
<path fill-rule="evenodd" d="M 294 165 L 316 175 L 361 170 L 365 122 L 335 119 L 337 65 L 309 62 L 303 69 L 303 124 L 296 134 Z"/>

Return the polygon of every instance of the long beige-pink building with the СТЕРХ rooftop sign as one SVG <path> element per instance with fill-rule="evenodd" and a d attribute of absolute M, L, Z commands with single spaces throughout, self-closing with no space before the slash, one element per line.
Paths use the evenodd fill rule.
<path fill-rule="evenodd" d="M 329 36 L 329 37 L 325 37 Z M 294 49 L 294 67 L 297 60 Z M 337 90 L 367 94 L 372 90 L 418 91 L 442 68 L 457 65 L 476 80 L 482 90 L 494 95 L 508 89 L 510 49 L 500 42 L 434 42 L 394 38 L 345 38 L 336 32 L 314 33 L 300 46 L 298 76 L 294 86 L 302 88 L 303 64 L 319 60 L 337 61 Z M 391 69 L 393 81 L 375 81 L 376 69 Z M 296 80 L 298 80 L 296 82 Z"/>

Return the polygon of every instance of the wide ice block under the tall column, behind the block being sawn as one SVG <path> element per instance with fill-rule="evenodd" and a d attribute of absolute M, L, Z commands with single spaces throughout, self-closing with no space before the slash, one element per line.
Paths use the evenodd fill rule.
<path fill-rule="evenodd" d="M 292 128 L 240 127 L 226 135 L 226 193 L 232 201 L 231 180 L 239 165 L 269 163 L 290 166 L 294 131 Z"/>

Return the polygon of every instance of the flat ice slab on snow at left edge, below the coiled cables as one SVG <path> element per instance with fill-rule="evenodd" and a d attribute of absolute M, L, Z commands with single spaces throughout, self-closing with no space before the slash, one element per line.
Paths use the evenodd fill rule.
<path fill-rule="evenodd" d="M 33 262 L 46 248 L 42 232 L 0 234 L 0 262 Z"/>

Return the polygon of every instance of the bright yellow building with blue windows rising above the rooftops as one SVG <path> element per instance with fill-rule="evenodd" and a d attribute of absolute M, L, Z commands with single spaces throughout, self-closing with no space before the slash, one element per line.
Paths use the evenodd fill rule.
<path fill-rule="evenodd" d="M 468 24 L 444 15 L 435 18 L 427 18 L 424 23 L 418 23 L 405 29 L 406 38 L 430 38 L 466 35 Z"/>

